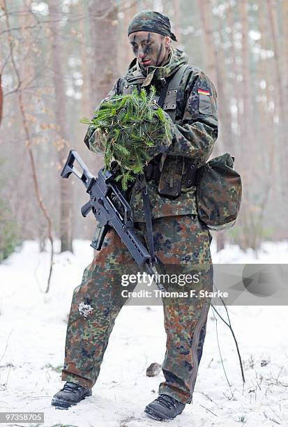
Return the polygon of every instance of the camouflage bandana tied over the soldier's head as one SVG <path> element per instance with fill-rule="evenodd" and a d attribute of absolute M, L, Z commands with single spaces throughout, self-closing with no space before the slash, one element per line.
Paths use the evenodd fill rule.
<path fill-rule="evenodd" d="M 151 31 L 152 33 L 169 36 L 177 41 L 176 36 L 171 31 L 169 17 L 153 10 L 142 10 L 137 13 L 128 26 L 128 36 L 136 31 Z"/>

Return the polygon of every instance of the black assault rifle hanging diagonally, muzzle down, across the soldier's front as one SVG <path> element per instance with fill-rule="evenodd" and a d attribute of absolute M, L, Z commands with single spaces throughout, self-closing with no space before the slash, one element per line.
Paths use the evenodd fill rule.
<path fill-rule="evenodd" d="M 81 167 L 81 172 L 75 167 L 75 160 Z M 71 173 L 75 174 L 84 183 L 86 193 L 90 195 L 89 202 L 81 208 L 82 215 L 86 217 L 92 211 L 96 220 L 103 225 L 97 245 L 92 243 L 91 246 L 96 250 L 100 250 L 107 231 L 110 227 L 113 227 L 139 267 L 146 270 L 149 275 L 157 277 L 157 260 L 156 263 L 151 261 L 149 251 L 135 234 L 132 209 L 116 186 L 114 174 L 109 170 L 105 171 L 103 167 L 98 172 L 98 177 L 94 177 L 75 150 L 69 152 L 61 177 L 68 178 Z M 121 211 L 116 208 L 114 200 L 121 205 Z M 165 288 L 161 283 L 158 283 L 158 280 L 156 280 L 156 285 L 159 290 L 165 292 Z"/>

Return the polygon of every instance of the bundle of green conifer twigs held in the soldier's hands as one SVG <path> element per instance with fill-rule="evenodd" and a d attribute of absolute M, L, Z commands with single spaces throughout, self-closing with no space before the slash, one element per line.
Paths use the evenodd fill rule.
<path fill-rule="evenodd" d="M 144 88 L 128 95 L 115 95 L 103 101 L 93 119 L 84 117 L 81 123 L 98 128 L 105 135 L 105 168 L 115 159 L 120 165 L 116 181 L 127 190 L 135 174 L 143 174 L 149 160 L 147 150 L 162 142 L 171 142 L 169 119 L 154 101 L 156 89 Z"/>

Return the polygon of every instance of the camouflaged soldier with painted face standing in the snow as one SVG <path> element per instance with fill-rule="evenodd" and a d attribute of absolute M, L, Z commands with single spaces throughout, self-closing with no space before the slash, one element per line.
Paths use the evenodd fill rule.
<path fill-rule="evenodd" d="M 211 234 L 197 216 L 195 171 L 209 158 L 218 135 L 215 89 L 202 70 L 188 66 L 184 52 L 172 47 L 176 37 L 166 15 L 150 10 L 137 13 L 129 24 L 128 38 L 135 59 L 107 98 L 135 87 L 149 90 L 153 84 L 173 133 L 171 144 L 149 148 L 151 161 L 145 170 L 155 253 L 170 274 L 197 272 L 198 285 L 186 284 L 188 289 L 211 290 Z M 105 150 L 93 126 L 84 142 L 91 151 Z M 135 230 L 146 239 L 142 192 L 137 184 L 130 189 L 129 201 Z M 68 408 L 91 396 L 114 320 L 125 303 L 121 275 L 132 264 L 130 253 L 110 230 L 73 294 L 62 371 L 66 384 L 52 399 L 55 407 Z M 186 403 L 192 403 L 209 301 L 163 298 L 163 309 L 165 381 L 158 398 L 145 408 L 146 414 L 158 420 L 174 419 Z"/>

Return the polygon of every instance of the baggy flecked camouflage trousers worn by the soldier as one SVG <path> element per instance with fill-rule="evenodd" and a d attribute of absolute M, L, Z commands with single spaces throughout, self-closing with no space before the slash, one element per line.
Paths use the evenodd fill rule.
<path fill-rule="evenodd" d="M 135 223 L 139 237 L 146 239 L 144 223 Z M 212 290 L 211 234 L 196 215 L 153 220 L 156 255 L 168 274 L 198 274 L 199 283 L 185 290 Z M 75 288 L 68 319 L 63 381 L 92 387 L 99 375 L 114 321 L 127 299 L 121 296 L 121 275 L 135 269 L 135 262 L 114 230 L 84 270 L 82 284 Z M 135 272 L 135 270 L 134 270 Z M 132 290 L 135 284 L 126 287 Z M 165 284 L 165 290 L 177 289 Z M 183 291 L 183 288 L 180 289 Z M 148 305 L 149 302 L 146 304 Z M 199 361 L 206 334 L 209 301 L 180 297 L 162 298 L 167 334 L 162 372 L 165 381 L 159 393 L 183 403 L 192 402 Z"/>

